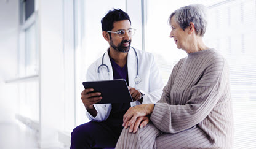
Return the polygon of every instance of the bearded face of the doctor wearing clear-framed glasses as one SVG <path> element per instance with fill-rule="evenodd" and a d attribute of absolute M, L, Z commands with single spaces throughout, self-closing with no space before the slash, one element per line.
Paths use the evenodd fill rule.
<path fill-rule="evenodd" d="M 116 21 L 113 23 L 114 28 L 112 31 L 116 32 L 119 30 L 128 30 L 131 28 L 129 20 Z M 118 50 L 119 52 L 129 52 L 130 43 L 132 42 L 132 36 L 129 36 L 127 32 L 124 34 L 124 37 L 118 37 L 118 34 L 111 33 L 110 38 L 110 46 L 114 48 L 114 50 Z"/>

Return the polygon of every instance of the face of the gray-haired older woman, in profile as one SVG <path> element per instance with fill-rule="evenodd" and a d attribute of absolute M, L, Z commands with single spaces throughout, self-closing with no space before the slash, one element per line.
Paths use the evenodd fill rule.
<path fill-rule="evenodd" d="M 175 15 L 170 19 L 170 27 L 172 28 L 170 37 L 174 38 L 174 42 L 178 49 L 181 48 L 182 50 L 186 50 L 188 47 L 188 28 L 183 31 L 183 29 L 180 28 L 180 25 L 175 21 L 174 17 Z"/>

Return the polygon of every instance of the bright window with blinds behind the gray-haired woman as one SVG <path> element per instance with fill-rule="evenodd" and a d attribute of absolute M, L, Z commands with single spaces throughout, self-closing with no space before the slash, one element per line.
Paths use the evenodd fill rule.
<path fill-rule="evenodd" d="M 228 60 L 235 124 L 234 148 L 255 148 L 256 143 L 256 1 L 147 1 L 145 50 L 154 53 L 164 83 L 172 67 L 186 53 L 170 39 L 168 18 L 189 4 L 207 6 L 206 45 Z"/>

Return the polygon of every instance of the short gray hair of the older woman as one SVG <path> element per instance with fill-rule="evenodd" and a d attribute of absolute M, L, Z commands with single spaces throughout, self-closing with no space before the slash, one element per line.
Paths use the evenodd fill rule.
<path fill-rule="evenodd" d="M 189 6 L 180 7 L 170 14 L 170 19 L 175 17 L 174 20 L 180 25 L 180 28 L 185 29 L 190 26 L 190 22 L 194 23 L 196 34 L 204 36 L 206 32 L 206 7 L 201 4 L 193 4 Z"/>

